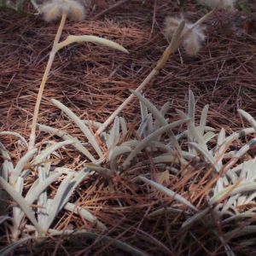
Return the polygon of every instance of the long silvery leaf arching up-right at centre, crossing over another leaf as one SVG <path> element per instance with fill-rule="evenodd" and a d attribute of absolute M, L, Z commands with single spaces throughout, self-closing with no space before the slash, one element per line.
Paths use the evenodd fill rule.
<path fill-rule="evenodd" d="M 125 162 L 123 163 L 122 166 L 127 166 L 130 161 L 139 153 L 141 152 L 141 150 L 145 147 L 148 147 L 148 144 L 154 140 L 154 137 L 158 137 L 160 134 L 164 133 L 164 132 L 168 132 L 171 131 L 171 129 L 173 129 L 174 127 L 178 126 L 178 125 L 183 125 L 184 123 L 188 122 L 189 119 L 182 119 L 182 120 L 178 120 L 176 122 L 173 122 L 172 124 L 169 125 L 165 125 L 162 126 L 160 129 L 158 129 L 157 131 L 154 131 L 153 133 L 151 133 L 150 135 L 148 135 L 148 137 L 145 137 L 143 139 L 142 142 L 140 142 L 136 148 L 134 148 L 134 150 L 131 152 L 131 154 L 128 155 L 128 157 L 126 158 Z"/>

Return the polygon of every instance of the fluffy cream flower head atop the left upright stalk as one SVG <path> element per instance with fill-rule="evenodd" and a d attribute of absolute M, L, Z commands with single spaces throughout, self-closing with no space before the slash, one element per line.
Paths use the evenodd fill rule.
<path fill-rule="evenodd" d="M 51 0 L 49 3 L 44 3 L 41 8 L 46 21 L 56 20 L 65 11 L 67 17 L 71 17 L 73 20 L 84 19 L 84 6 L 75 0 Z"/>

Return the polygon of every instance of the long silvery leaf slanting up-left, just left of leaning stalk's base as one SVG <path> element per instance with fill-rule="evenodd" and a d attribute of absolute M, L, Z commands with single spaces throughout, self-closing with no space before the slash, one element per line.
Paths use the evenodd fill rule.
<path fill-rule="evenodd" d="M 61 108 L 62 111 L 67 113 L 70 119 L 73 119 L 73 121 L 79 126 L 81 131 L 83 131 L 85 137 L 87 137 L 89 143 L 92 145 L 92 147 L 96 150 L 96 153 L 101 157 L 102 156 L 102 149 L 99 147 L 99 144 L 96 141 L 96 138 L 93 134 L 91 134 L 90 129 L 84 125 L 84 122 L 79 119 L 78 116 L 76 116 L 69 108 L 64 106 L 61 102 L 56 101 L 55 99 L 52 99 L 51 102 L 53 102 L 58 108 Z"/>

